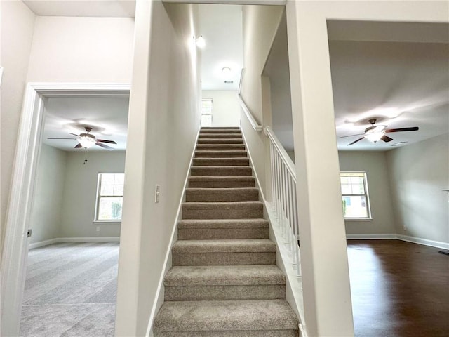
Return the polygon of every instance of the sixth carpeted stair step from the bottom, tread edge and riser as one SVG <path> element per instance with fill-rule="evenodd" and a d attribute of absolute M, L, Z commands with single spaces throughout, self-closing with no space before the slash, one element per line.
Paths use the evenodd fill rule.
<path fill-rule="evenodd" d="M 187 202 L 259 201 L 259 190 L 255 187 L 236 188 L 187 188 Z"/>

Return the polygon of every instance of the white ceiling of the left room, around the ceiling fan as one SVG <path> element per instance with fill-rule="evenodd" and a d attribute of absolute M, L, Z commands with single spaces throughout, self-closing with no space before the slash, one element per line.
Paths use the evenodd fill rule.
<path fill-rule="evenodd" d="M 84 127 L 92 128 L 91 134 L 97 139 L 114 140 L 117 144 L 106 144 L 114 150 L 126 149 L 128 126 L 128 97 L 72 97 L 47 98 L 45 102 L 45 124 L 43 143 L 64 151 L 75 149 L 76 136 L 70 133 L 86 133 Z M 48 138 L 74 138 L 53 140 Z M 108 151 L 93 145 L 91 151 Z"/>

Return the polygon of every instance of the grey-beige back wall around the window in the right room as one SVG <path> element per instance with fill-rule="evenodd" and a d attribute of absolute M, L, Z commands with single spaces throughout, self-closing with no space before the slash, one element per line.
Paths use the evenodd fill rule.
<path fill-rule="evenodd" d="M 373 220 L 345 220 L 346 234 L 395 234 L 386 152 L 338 152 L 340 171 L 365 171 Z"/>

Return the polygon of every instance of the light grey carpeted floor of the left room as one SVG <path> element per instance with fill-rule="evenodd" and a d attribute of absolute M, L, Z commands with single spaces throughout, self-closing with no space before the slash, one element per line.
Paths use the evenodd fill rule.
<path fill-rule="evenodd" d="M 20 336 L 114 336 L 118 260 L 118 242 L 30 250 Z"/>

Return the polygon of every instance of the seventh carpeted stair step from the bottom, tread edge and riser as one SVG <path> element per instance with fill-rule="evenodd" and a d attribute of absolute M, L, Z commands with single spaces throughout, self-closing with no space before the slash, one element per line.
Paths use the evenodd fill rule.
<path fill-rule="evenodd" d="M 252 176 L 190 176 L 189 188 L 255 187 Z"/>

